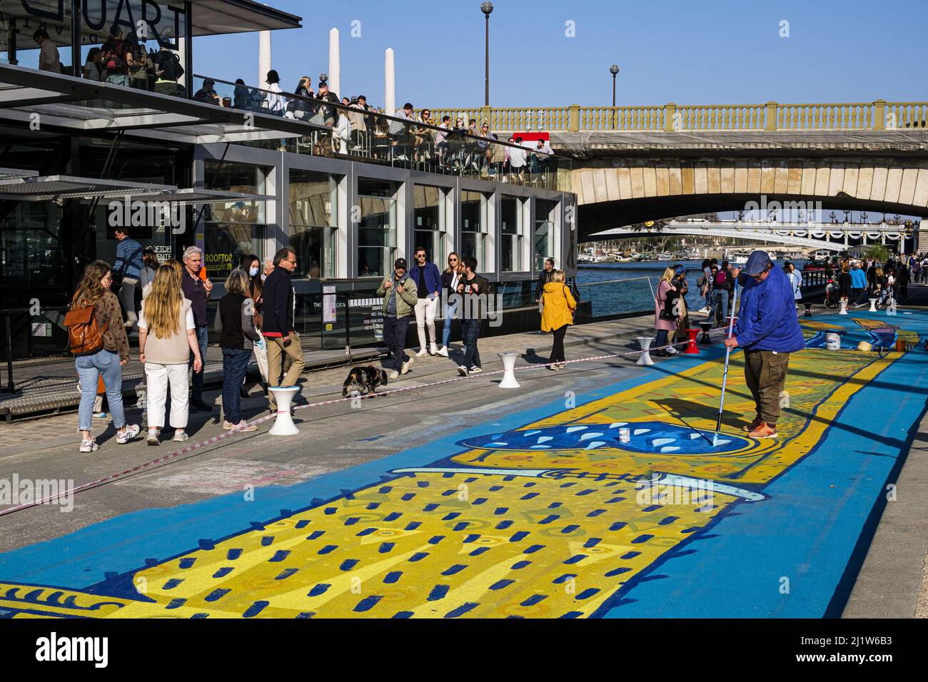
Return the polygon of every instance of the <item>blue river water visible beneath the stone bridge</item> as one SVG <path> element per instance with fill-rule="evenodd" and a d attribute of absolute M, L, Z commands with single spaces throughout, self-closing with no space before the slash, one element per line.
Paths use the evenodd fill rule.
<path fill-rule="evenodd" d="M 776 262 L 780 267 L 782 262 Z M 802 269 L 805 261 L 793 261 L 797 269 Z M 687 282 L 690 292 L 687 294 L 687 306 L 690 310 L 702 308 L 702 297 L 696 278 L 702 272 L 700 261 L 674 261 L 673 263 L 597 263 L 577 265 L 577 288 L 581 300 L 593 302 L 593 315 L 615 315 L 654 309 L 652 290 L 664 275 L 664 268 L 680 264 L 687 268 Z M 641 277 L 641 278 L 639 278 Z M 649 278 L 643 278 L 649 277 Z M 612 279 L 629 281 L 593 285 L 595 282 L 608 282 Z M 649 286 L 650 284 L 650 286 Z"/>

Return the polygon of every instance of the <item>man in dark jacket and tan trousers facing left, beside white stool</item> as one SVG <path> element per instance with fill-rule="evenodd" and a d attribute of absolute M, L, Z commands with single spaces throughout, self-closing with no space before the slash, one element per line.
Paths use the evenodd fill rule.
<path fill-rule="evenodd" d="M 303 374 L 303 346 L 293 328 L 293 285 L 290 273 L 296 269 L 296 252 L 283 248 L 274 254 L 274 270 L 264 280 L 263 327 L 267 341 L 267 383 L 269 386 L 295 386 Z M 290 358 L 290 368 L 283 374 L 284 356 Z M 277 382 L 278 380 L 279 383 Z M 277 410 L 274 393 L 270 394 L 271 410 Z"/>

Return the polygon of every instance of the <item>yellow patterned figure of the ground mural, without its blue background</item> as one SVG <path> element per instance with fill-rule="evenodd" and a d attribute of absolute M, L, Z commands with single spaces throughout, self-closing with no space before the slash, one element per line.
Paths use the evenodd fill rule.
<path fill-rule="evenodd" d="M 831 320 L 861 331 L 874 327 Z M 809 341 L 821 331 L 818 323 L 806 324 Z M 774 503 L 771 483 L 814 459 L 810 453 L 844 406 L 909 355 L 815 347 L 793 354 L 780 438 L 754 441 L 740 429 L 754 405 L 741 382 L 742 355 L 733 354 L 717 447 L 712 433 L 720 357 L 690 358 L 672 374 L 662 364 L 664 371 L 651 370 L 647 379 L 620 384 L 586 404 L 561 405 L 545 418 L 465 438 L 432 464 L 396 468 L 387 458 L 379 481 L 249 528 L 229 528 L 220 540 L 200 540 L 199 546 L 192 540 L 188 551 L 168 560 L 146 565 L 140 557 L 136 570 L 82 590 L 0 582 L 0 612 L 95 618 L 621 615 L 637 586 L 666 577 L 655 575 L 664 561 L 698 551 L 696 539 L 724 539 L 727 520 Z M 624 429 L 628 443 L 621 442 Z M 875 481 L 858 494 L 870 495 L 872 506 L 881 485 Z M 728 579 L 724 563 L 703 571 L 691 580 Z M 827 591 L 836 580 L 828 578 L 819 589 Z M 684 595 L 690 590 L 673 588 Z"/>

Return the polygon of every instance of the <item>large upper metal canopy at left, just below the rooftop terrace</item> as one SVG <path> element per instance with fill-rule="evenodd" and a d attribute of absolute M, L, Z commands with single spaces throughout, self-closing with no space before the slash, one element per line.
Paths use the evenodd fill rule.
<path fill-rule="evenodd" d="M 0 64 L 0 122 L 208 144 L 312 135 L 322 125 Z"/>

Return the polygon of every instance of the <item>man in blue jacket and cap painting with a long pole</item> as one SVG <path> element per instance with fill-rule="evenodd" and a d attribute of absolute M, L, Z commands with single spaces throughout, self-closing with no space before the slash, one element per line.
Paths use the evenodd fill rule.
<path fill-rule="evenodd" d="M 744 349 L 744 380 L 757 411 L 744 431 L 751 438 L 776 438 L 790 354 L 806 347 L 793 288 L 767 251 L 753 251 L 744 268 L 735 268 L 732 275 L 743 294 L 734 334 L 725 345 Z"/>

